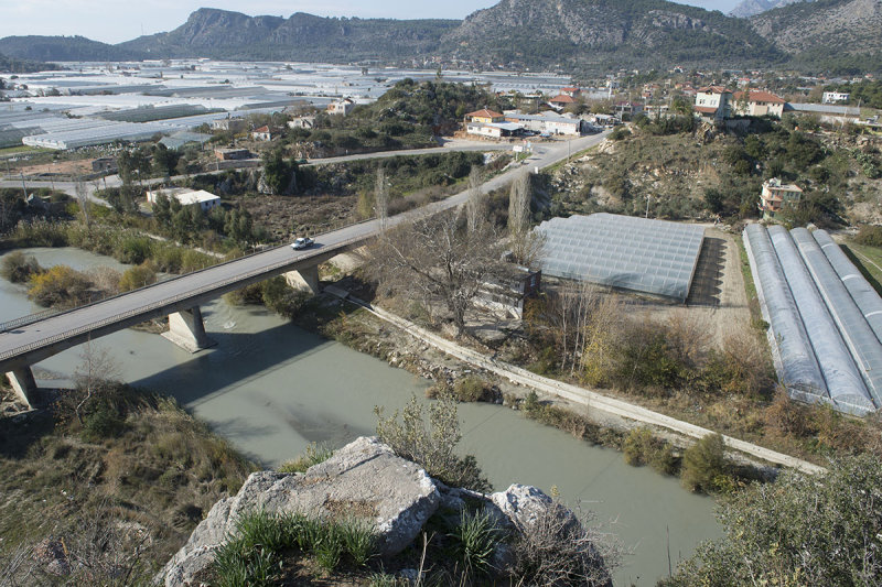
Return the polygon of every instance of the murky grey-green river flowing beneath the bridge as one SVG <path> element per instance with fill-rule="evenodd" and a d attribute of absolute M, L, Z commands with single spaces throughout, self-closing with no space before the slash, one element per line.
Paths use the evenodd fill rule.
<path fill-rule="evenodd" d="M 43 267 L 125 269 L 77 249 L 30 249 Z M 0 322 L 40 308 L 23 285 L 0 280 Z M 115 359 L 133 385 L 175 396 L 239 450 L 267 466 L 300 454 L 309 443 L 334 447 L 372 434 L 374 406 L 391 411 L 428 383 L 374 357 L 308 333 L 260 307 L 218 300 L 203 307 L 205 328 L 218 344 L 191 355 L 164 338 L 121 330 L 93 343 Z M 82 357 L 72 348 L 34 366 L 37 382 L 69 380 Z M 556 487 L 581 501 L 633 550 L 616 585 L 654 585 L 702 540 L 720 535 L 714 502 L 681 489 L 677 479 L 634 468 L 622 454 L 592 447 L 507 407 L 460 404 L 462 449 L 475 455 L 497 490 L 513 482 Z"/>

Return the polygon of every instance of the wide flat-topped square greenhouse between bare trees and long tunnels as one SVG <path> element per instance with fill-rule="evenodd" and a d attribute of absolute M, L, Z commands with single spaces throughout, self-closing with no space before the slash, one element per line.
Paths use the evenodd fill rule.
<path fill-rule="evenodd" d="M 542 272 L 686 301 L 704 228 L 614 214 L 552 218 Z"/>

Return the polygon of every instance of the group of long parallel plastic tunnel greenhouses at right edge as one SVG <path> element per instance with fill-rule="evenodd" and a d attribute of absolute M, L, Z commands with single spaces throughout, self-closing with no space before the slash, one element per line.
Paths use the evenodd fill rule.
<path fill-rule="evenodd" d="M 751 225 L 744 246 L 782 383 L 796 399 L 865 414 L 882 405 L 882 344 L 847 287 L 853 276 L 828 260 L 838 247 L 824 236 Z"/>

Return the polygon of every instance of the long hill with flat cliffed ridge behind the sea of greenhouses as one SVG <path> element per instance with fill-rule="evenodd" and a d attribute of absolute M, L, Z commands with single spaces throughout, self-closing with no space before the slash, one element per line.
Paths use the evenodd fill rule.
<path fill-rule="evenodd" d="M 171 32 L 141 36 L 119 46 L 154 58 L 396 61 L 431 53 L 441 35 L 459 23 L 323 18 L 304 12 L 282 19 L 203 8 Z"/>

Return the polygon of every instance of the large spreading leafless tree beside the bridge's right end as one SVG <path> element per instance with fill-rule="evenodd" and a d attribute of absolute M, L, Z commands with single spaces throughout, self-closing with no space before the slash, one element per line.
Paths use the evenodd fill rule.
<path fill-rule="evenodd" d="M 372 264 L 380 291 L 443 303 L 458 336 L 474 297 L 504 267 L 495 227 L 476 216 L 470 230 L 463 215 L 462 208 L 447 210 L 387 231 Z"/>

